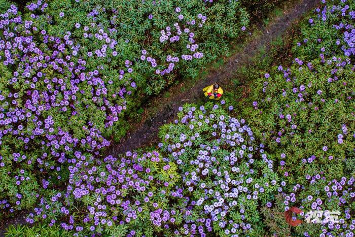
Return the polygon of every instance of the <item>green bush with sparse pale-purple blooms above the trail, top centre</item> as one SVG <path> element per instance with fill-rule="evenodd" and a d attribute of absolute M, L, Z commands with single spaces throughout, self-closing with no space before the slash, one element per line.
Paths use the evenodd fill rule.
<path fill-rule="evenodd" d="M 124 60 L 133 61 L 128 80 L 149 95 L 176 77 L 197 76 L 207 62 L 227 52 L 228 42 L 249 23 L 247 12 L 234 0 L 65 0 L 43 5 L 30 4 L 28 9 L 43 11 L 34 21 L 50 35 L 72 32 L 75 54 L 90 66 L 102 65 L 102 73 L 116 85 L 124 84 L 119 76 Z M 147 60 L 140 57 L 143 49 Z"/>

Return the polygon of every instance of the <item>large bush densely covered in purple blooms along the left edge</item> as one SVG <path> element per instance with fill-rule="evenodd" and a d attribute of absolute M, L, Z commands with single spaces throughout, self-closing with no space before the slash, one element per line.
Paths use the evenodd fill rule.
<path fill-rule="evenodd" d="M 5 72 L 0 85 L 0 165 L 12 177 L 9 181 L 16 184 L 16 191 L 33 203 L 38 194 L 32 190 L 42 183 L 35 172 L 60 179 L 51 173 L 60 171 L 67 154 L 110 144 L 101 131 L 118 121 L 128 92 L 124 87 L 112 90 L 100 67 L 86 68 L 87 61 L 76 56 L 69 31 L 62 38 L 50 36 L 22 19 L 14 5 L 0 17 L 0 67 Z M 33 186 L 27 187 L 24 180 Z M 13 193 L 6 182 L 1 186 L 7 187 L 4 197 Z M 16 209 L 28 205 L 15 197 L 11 200 Z"/>

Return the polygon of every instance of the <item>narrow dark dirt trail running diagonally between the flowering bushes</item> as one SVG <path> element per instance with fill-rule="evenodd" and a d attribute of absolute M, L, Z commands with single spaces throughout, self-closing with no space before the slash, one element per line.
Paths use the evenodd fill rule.
<path fill-rule="evenodd" d="M 233 79 L 235 73 L 241 66 L 247 65 L 250 59 L 255 56 L 259 49 L 265 47 L 266 52 L 270 48 L 270 42 L 281 36 L 292 23 L 297 21 L 302 15 L 316 7 L 318 0 L 301 0 L 288 7 L 282 16 L 276 18 L 266 28 L 258 27 L 260 35 L 246 44 L 244 48 L 235 55 L 228 58 L 228 61 L 218 71 L 212 72 L 203 80 L 197 81 L 193 87 L 181 92 L 181 85 L 172 86 L 169 91 L 178 91 L 168 99 L 162 96 L 156 98 L 158 105 L 157 113 L 140 123 L 134 130 L 129 131 L 125 138 L 118 143 L 112 143 L 107 149 L 107 154 L 117 156 L 126 151 L 132 151 L 139 147 L 156 144 L 158 141 L 159 127 L 171 121 L 176 115 L 180 106 L 203 97 L 202 88 L 212 83 L 218 82 L 220 85 L 227 84 Z"/>

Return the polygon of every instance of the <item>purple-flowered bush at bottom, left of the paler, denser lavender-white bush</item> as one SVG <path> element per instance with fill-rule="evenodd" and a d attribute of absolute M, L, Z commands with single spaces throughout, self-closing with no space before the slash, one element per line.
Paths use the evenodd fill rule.
<path fill-rule="evenodd" d="M 62 228 L 77 234 L 85 228 L 119 235 L 115 231 L 121 226 L 131 235 L 138 230 L 149 235 L 151 228 L 159 231 L 159 227 L 168 233 L 180 219 L 179 211 L 166 202 L 183 200 L 173 195 L 180 177 L 176 165 L 164 161 L 158 152 L 127 152 L 120 159 L 108 156 L 103 161 L 81 152 L 75 152 L 75 157 L 66 191 L 42 198 L 27 217 L 29 223 L 47 219 L 54 224 L 60 219 Z"/>

